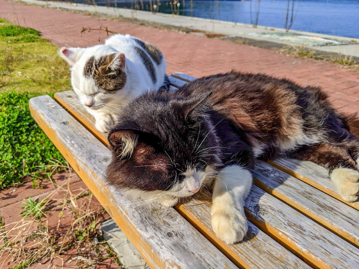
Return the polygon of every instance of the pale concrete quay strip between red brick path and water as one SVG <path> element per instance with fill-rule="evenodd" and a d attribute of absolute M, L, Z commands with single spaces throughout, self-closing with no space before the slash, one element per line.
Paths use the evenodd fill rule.
<path fill-rule="evenodd" d="M 315 51 L 316 56 L 329 59 L 340 57 L 351 57 L 359 60 L 359 39 L 333 36 L 327 34 L 309 33 L 290 30 L 290 34 L 285 29 L 258 26 L 253 28 L 250 24 L 225 22 L 221 20 L 202 19 L 181 15 L 171 15 L 149 11 L 132 10 L 123 8 L 107 8 L 106 6 L 93 6 L 85 4 L 72 4 L 70 2 L 53 2 L 39 0 L 14 0 L 22 3 L 43 5 L 52 8 L 61 8 L 74 11 L 86 11 L 91 13 L 104 14 L 112 18 L 136 19 L 165 27 L 176 27 L 185 31 L 205 31 L 207 33 L 222 34 L 224 39 L 231 41 L 244 41 L 247 44 L 265 47 L 282 48 L 291 46 L 305 45 L 310 50 Z M 353 29 L 353 31 L 355 31 Z M 197 32 L 198 33 L 198 32 Z M 204 35 L 202 33 L 202 35 Z M 319 46 L 320 43 L 331 42 L 332 45 Z M 353 44 L 353 42 L 355 44 Z M 338 45 L 349 43 L 348 45 Z"/>

